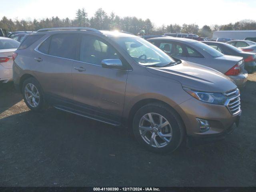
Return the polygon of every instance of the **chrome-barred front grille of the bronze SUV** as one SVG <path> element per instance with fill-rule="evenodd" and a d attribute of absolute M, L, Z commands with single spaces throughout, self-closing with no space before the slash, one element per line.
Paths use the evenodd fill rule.
<path fill-rule="evenodd" d="M 240 113 L 241 106 L 240 106 L 240 92 L 238 89 L 229 91 L 225 93 L 225 95 L 228 98 L 228 109 L 231 112 L 232 115 L 236 115 Z"/>

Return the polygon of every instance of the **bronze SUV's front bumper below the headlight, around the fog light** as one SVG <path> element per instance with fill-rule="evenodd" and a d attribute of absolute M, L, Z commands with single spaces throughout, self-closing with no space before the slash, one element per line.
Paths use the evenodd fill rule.
<path fill-rule="evenodd" d="M 233 124 L 239 122 L 241 112 L 232 115 L 224 105 L 210 104 L 191 98 L 175 107 L 180 114 L 188 137 L 209 138 L 216 137 L 228 132 Z M 196 118 L 207 120 L 210 130 L 201 132 Z"/>

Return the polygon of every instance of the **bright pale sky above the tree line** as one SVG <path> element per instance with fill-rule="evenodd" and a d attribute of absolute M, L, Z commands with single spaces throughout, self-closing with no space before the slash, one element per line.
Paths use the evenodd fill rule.
<path fill-rule="evenodd" d="M 85 8 L 89 17 L 102 8 L 109 15 L 113 11 L 121 17 L 149 18 L 155 26 L 186 23 L 202 27 L 256 20 L 256 0 L 0 0 L 0 5 L 0 18 L 19 20 L 74 19 L 79 8 Z"/>

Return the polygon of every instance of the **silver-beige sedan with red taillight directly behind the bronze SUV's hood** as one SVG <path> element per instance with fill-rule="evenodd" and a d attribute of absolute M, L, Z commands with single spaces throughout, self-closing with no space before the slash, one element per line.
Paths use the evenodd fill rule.
<path fill-rule="evenodd" d="M 148 41 L 174 58 L 201 64 L 222 72 L 234 80 L 240 88 L 246 84 L 248 74 L 244 70 L 242 57 L 224 55 L 202 42 L 186 38 L 152 38 Z"/>

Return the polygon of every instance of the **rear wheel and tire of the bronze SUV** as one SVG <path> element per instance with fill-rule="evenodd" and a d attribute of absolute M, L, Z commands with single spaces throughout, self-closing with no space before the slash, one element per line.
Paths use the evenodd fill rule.
<path fill-rule="evenodd" d="M 28 108 L 41 111 L 45 106 L 42 88 L 35 78 L 28 78 L 22 84 L 22 94 Z"/>

